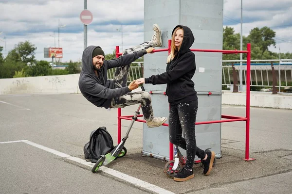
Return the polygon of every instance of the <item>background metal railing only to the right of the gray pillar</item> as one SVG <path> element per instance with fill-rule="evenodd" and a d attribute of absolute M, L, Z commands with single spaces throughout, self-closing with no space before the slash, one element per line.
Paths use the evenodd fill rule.
<path fill-rule="evenodd" d="M 246 82 L 246 65 L 239 65 L 236 64 L 236 62 L 244 62 L 244 60 L 222 61 L 222 86 L 232 86 L 235 82 L 239 87 L 245 86 L 244 83 Z M 262 87 L 260 91 L 272 91 L 271 87 L 274 86 L 278 88 L 278 92 L 291 92 L 292 59 L 251 60 L 251 62 L 251 86 Z M 243 74 L 243 80 L 241 81 L 241 83 L 243 83 L 242 85 L 240 85 L 240 81 L 239 84 L 237 84 L 237 80 L 240 79 L 240 72 Z"/>

